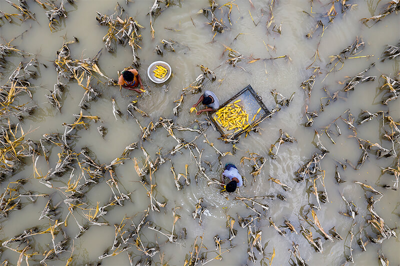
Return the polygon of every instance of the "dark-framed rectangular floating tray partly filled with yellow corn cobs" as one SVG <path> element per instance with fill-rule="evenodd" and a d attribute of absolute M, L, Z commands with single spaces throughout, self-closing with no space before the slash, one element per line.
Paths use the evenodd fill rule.
<path fill-rule="evenodd" d="M 250 85 L 247 85 L 210 115 L 212 123 L 221 136 L 233 140 L 251 130 L 269 114 L 262 98 Z"/>

